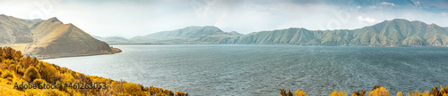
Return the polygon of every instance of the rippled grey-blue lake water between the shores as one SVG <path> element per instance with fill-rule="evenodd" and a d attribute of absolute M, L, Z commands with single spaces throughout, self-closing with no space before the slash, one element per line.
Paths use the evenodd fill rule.
<path fill-rule="evenodd" d="M 190 95 L 349 94 L 384 86 L 430 91 L 448 85 L 448 47 L 296 45 L 114 45 L 110 55 L 44 60 L 90 76 Z"/>

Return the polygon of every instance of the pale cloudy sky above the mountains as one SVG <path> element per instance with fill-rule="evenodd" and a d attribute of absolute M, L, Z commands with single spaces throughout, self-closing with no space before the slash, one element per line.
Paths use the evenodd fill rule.
<path fill-rule="evenodd" d="M 355 29 L 393 19 L 448 27 L 447 0 L 0 0 L 0 14 L 56 17 L 90 35 L 125 38 L 190 26 L 249 34 Z"/>

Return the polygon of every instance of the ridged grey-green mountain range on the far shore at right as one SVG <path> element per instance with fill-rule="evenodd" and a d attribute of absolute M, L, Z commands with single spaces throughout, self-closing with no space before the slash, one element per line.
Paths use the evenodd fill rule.
<path fill-rule="evenodd" d="M 239 39 L 237 44 L 445 46 L 448 31 L 435 24 L 395 19 L 354 30 L 289 28 L 256 32 Z"/>

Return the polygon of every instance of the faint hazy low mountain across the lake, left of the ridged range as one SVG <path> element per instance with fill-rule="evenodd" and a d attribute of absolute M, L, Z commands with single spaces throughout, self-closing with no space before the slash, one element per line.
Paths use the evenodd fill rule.
<path fill-rule="evenodd" d="M 243 35 L 237 32 L 223 32 L 220 28 L 207 26 L 135 36 L 130 40 L 136 44 L 234 44 L 239 36 Z"/>

